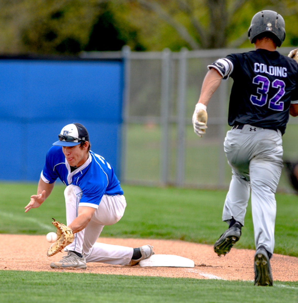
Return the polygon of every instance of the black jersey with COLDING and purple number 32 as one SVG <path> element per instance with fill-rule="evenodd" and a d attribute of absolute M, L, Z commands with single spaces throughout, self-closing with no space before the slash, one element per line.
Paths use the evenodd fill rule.
<path fill-rule="evenodd" d="M 266 49 L 231 54 L 234 83 L 229 125 L 250 124 L 285 132 L 291 100 L 298 99 L 298 64 Z"/>

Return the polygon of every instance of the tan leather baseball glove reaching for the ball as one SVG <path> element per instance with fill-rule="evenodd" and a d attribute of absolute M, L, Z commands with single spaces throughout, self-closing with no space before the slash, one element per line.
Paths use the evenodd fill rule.
<path fill-rule="evenodd" d="M 46 253 L 49 257 L 56 255 L 56 253 L 59 251 L 62 251 L 64 247 L 70 243 L 73 243 L 74 239 L 74 233 L 70 227 L 56 221 L 54 218 L 52 219 L 54 220 L 52 224 L 57 227 L 57 241 L 49 247 L 48 252 Z"/>

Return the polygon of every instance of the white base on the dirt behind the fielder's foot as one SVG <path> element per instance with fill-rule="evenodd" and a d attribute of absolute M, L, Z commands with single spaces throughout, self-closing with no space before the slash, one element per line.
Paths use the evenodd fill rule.
<path fill-rule="evenodd" d="M 195 267 L 195 262 L 191 259 L 176 255 L 152 255 L 150 258 L 141 260 L 139 265 L 164 266 L 164 267 Z"/>

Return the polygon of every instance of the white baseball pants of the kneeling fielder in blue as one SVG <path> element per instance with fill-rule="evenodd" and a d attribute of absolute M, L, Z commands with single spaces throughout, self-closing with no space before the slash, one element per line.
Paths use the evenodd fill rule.
<path fill-rule="evenodd" d="M 69 225 L 78 216 L 82 190 L 79 186 L 71 184 L 65 188 L 64 196 L 66 222 Z M 86 262 L 128 265 L 134 252 L 133 248 L 96 242 L 104 225 L 115 224 L 122 218 L 125 207 L 124 195 L 104 195 L 87 227 L 75 234 L 73 243 L 65 250 L 83 254 Z"/>

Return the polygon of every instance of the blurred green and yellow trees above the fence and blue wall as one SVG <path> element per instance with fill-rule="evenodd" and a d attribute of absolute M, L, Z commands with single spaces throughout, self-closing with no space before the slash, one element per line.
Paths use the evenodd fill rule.
<path fill-rule="evenodd" d="M 250 20 L 263 9 L 283 15 L 284 45 L 296 46 L 294 0 L 2 0 L 0 52 L 246 47 Z"/>

